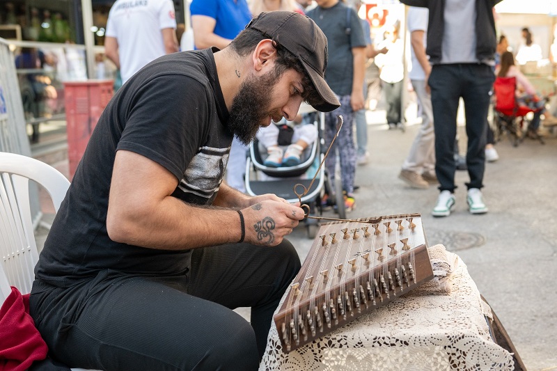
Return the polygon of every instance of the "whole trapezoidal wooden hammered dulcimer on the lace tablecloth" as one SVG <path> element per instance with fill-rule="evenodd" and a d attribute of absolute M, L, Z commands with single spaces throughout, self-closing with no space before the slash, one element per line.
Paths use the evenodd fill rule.
<path fill-rule="evenodd" d="M 395 221 L 392 228 L 391 221 Z M 418 225 L 413 221 L 418 222 Z M 386 225 L 381 232 L 378 225 L 383 226 L 383 223 Z M 340 232 L 325 233 L 333 225 L 338 225 Z M 400 231 L 405 228 L 407 230 L 404 232 L 410 235 L 416 246 L 409 246 L 407 241 L 400 240 Z M 378 239 L 385 240 L 385 244 L 392 243 L 352 254 L 354 250 L 349 241 L 350 251 L 347 253 L 355 258 L 343 260 L 338 251 L 347 239 L 360 239 L 360 246 L 362 242 L 372 243 Z M 338 262 L 340 264 L 336 264 Z M 390 303 L 432 278 L 420 214 L 326 223 L 320 227 L 304 265 L 286 292 L 281 308 L 274 315 L 283 351 L 291 352 L 361 315 L 372 313 L 375 308 Z"/>

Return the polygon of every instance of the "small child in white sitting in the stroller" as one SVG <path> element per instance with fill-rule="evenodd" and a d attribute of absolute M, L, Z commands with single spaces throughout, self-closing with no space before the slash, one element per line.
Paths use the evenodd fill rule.
<path fill-rule="evenodd" d="M 271 168 L 296 166 L 301 163 L 301 154 L 317 139 L 317 127 L 304 125 L 301 115 L 294 121 L 283 118 L 278 123 L 262 127 L 257 133 L 259 143 L 267 150 L 263 165 Z M 282 146 L 288 145 L 284 151 Z"/>

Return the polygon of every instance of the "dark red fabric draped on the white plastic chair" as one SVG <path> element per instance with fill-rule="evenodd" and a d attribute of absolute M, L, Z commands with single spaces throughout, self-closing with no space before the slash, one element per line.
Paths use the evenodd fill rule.
<path fill-rule="evenodd" d="M 0 370 L 24 371 L 47 357 L 47 344 L 29 315 L 29 294 L 12 287 L 0 308 Z"/>

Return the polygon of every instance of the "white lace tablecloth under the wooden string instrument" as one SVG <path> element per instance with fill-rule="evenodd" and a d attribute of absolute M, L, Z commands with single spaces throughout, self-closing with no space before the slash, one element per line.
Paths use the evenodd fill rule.
<path fill-rule="evenodd" d="M 446 254 L 455 262 L 450 294 L 411 292 L 289 354 L 273 322 L 259 370 L 513 370 L 512 354 L 489 335 L 491 309 L 466 265 Z"/>

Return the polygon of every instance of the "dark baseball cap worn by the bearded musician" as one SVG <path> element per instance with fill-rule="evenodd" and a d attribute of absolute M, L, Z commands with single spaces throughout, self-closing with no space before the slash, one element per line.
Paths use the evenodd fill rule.
<path fill-rule="evenodd" d="M 269 35 L 298 58 L 324 101 L 322 104 L 312 104 L 313 108 L 330 112 L 340 107 L 338 98 L 324 79 L 328 57 L 327 38 L 313 19 L 296 12 L 264 12 L 251 19 L 246 29 Z"/>

